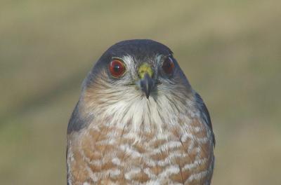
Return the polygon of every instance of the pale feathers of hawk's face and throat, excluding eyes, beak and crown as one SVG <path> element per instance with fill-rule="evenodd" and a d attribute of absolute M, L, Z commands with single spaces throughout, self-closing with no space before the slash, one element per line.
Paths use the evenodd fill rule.
<path fill-rule="evenodd" d="M 148 59 L 155 71 L 159 70 L 161 58 L 161 55 L 155 55 Z M 176 81 L 176 77 L 162 78 L 147 99 L 134 83 L 138 78 L 136 69 L 139 62 L 129 55 L 122 57 L 122 60 L 126 64 L 124 77 L 112 82 L 106 69 L 103 69 L 95 74 L 96 78 L 86 88 L 82 99 L 89 114 L 94 113 L 101 120 L 110 117 L 107 119 L 108 125 L 129 127 L 133 132 L 157 130 L 161 134 L 162 128 L 175 125 L 178 114 L 185 111 L 186 102 L 192 99 L 189 86 L 186 85 L 188 82 L 182 79 Z"/>

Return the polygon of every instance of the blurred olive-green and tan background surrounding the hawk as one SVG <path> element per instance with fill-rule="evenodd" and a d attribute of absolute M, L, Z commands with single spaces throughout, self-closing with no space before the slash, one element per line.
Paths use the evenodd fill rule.
<path fill-rule="evenodd" d="M 169 46 L 209 108 L 212 184 L 281 184 L 281 1 L 0 2 L 1 184 L 66 184 L 80 85 L 124 39 Z"/>

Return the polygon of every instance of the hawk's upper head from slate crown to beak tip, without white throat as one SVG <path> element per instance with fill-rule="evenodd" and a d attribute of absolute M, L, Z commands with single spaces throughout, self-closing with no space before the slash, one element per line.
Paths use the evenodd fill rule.
<path fill-rule="evenodd" d="M 190 87 L 172 51 L 146 39 L 121 41 L 106 50 L 84 84 L 89 87 L 94 83 L 121 93 L 119 99 L 129 89 L 136 97 L 155 99 L 159 94 L 176 93 L 178 86 L 185 91 Z"/>

